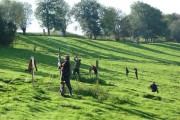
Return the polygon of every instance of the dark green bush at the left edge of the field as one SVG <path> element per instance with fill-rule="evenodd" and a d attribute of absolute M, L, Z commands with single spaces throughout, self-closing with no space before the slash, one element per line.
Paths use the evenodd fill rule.
<path fill-rule="evenodd" d="M 16 25 L 0 17 L 0 46 L 10 46 L 16 33 Z"/>

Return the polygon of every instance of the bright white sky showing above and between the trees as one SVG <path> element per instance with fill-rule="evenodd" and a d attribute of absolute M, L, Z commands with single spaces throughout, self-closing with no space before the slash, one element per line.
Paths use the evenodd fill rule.
<path fill-rule="evenodd" d="M 28 2 L 32 5 L 33 11 L 36 9 L 36 0 L 16 0 L 21 2 Z M 65 0 L 70 6 L 80 2 L 81 0 Z M 180 0 L 97 0 L 100 4 L 107 7 L 114 7 L 122 10 L 126 15 L 130 14 L 130 6 L 135 1 L 141 1 L 159 9 L 163 14 L 177 13 L 180 14 Z M 80 29 L 75 30 L 77 23 L 70 24 L 67 28 L 68 32 L 81 34 Z M 31 25 L 27 28 L 27 32 L 42 32 L 38 21 L 33 17 Z"/>

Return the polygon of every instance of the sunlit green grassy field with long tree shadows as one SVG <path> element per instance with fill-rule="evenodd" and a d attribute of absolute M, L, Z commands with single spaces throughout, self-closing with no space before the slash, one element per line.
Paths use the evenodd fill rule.
<path fill-rule="evenodd" d="M 36 46 L 36 52 L 33 51 Z M 59 94 L 61 55 L 82 60 L 81 78 L 71 79 L 73 97 Z M 37 61 L 35 87 L 25 72 Z M 99 61 L 98 83 L 88 74 Z M 125 75 L 125 68 L 130 73 Z M 138 68 L 139 79 L 133 68 Z M 1 120 L 180 120 L 180 44 L 89 40 L 19 35 L 13 48 L 0 48 Z M 159 93 L 148 88 L 155 81 Z M 68 95 L 68 90 L 66 94 Z"/>

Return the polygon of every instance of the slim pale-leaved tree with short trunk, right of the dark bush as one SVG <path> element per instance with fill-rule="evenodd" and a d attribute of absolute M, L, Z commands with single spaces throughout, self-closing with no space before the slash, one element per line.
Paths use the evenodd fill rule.
<path fill-rule="evenodd" d="M 26 28 L 31 24 L 31 15 L 33 13 L 31 4 L 24 2 L 23 4 L 23 14 L 20 21 L 20 27 L 23 31 L 23 34 L 26 34 Z"/>

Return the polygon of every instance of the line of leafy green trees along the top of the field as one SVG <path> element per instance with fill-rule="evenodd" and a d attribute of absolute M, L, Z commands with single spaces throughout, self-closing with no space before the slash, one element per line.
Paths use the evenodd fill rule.
<path fill-rule="evenodd" d="M 166 40 L 180 42 L 180 28 L 178 27 L 180 15 L 175 13 L 164 15 L 159 9 L 140 1 L 131 5 L 129 15 L 125 15 L 120 9 L 105 7 L 97 0 L 81 0 L 72 8 L 65 0 L 37 0 L 36 4 L 35 16 L 41 27 L 47 28 L 48 35 L 50 35 L 50 30 L 55 29 L 66 36 L 67 26 L 74 18 L 83 33 L 91 39 L 97 39 L 99 36 L 113 37 L 116 40 L 131 37 L 137 42 L 140 38 L 153 42 L 163 37 Z M 4 27 L 0 27 L 0 30 L 6 32 L 21 29 L 23 34 L 26 34 L 32 13 L 32 6 L 29 3 L 1 0 L 0 26 Z M 11 27 L 7 27 L 8 24 L 11 24 Z M 3 32 L 1 36 L 5 35 Z M 15 34 L 15 32 L 10 33 L 12 36 Z M 1 36 L 1 44 L 5 44 Z M 9 45 L 11 42 L 6 44 Z"/>

